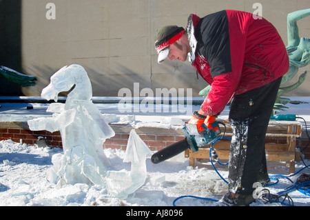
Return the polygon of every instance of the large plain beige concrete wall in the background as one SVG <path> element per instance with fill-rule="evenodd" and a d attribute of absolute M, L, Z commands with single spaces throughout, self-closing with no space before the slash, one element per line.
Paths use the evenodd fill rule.
<path fill-rule="evenodd" d="M 188 61 L 158 65 L 156 30 L 168 24 L 186 26 L 191 13 L 203 17 L 223 9 L 254 12 L 256 2 L 285 44 L 287 14 L 310 8 L 310 0 L 21 0 L 21 68 L 39 79 L 23 93 L 40 96 L 54 72 L 77 63 L 87 70 L 94 96 L 117 96 L 121 88 L 132 89 L 134 82 L 154 91 L 193 88 L 197 96 L 207 84 Z M 46 8 L 48 3 L 55 8 Z M 55 14 L 50 14 L 53 9 Z M 55 19 L 47 19 L 47 13 Z M 300 37 L 310 37 L 309 22 L 310 17 L 298 22 Z M 299 74 L 305 70 L 310 66 Z M 309 83 L 310 76 L 289 95 L 309 95 Z"/>

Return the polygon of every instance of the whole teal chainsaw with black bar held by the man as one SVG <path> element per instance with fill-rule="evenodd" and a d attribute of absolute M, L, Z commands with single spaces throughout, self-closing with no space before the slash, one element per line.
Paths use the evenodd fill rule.
<path fill-rule="evenodd" d="M 199 148 L 211 144 L 221 132 L 218 121 L 214 121 L 211 126 L 213 128 L 218 127 L 218 130 L 209 129 L 203 123 L 202 127 L 204 130 L 199 132 L 195 124 L 186 123 L 183 128 L 185 139 L 154 153 L 151 157 L 152 163 L 161 163 L 187 149 L 196 152 Z"/>

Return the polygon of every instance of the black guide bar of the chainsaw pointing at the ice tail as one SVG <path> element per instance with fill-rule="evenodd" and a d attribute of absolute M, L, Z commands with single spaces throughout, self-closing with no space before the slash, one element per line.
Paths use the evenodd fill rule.
<path fill-rule="evenodd" d="M 158 152 L 153 154 L 151 157 L 151 161 L 152 163 L 161 163 L 162 161 L 165 161 L 180 154 L 188 148 L 189 144 L 187 143 L 186 139 L 178 141 L 177 143 L 174 143 L 171 146 L 168 146 L 167 148 L 159 150 Z"/>

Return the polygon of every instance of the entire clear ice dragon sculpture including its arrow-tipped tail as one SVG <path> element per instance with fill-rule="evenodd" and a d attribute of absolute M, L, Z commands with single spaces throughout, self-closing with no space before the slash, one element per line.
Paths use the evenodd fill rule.
<path fill-rule="evenodd" d="M 54 113 L 52 117 L 28 121 L 30 130 L 61 132 L 63 154 L 52 157 L 54 166 L 48 173 L 48 181 L 59 186 L 75 183 L 105 185 L 113 196 L 127 198 L 145 183 L 145 159 L 149 148 L 132 130 L 124 159 L 124 162 L 132 163 L 131 170 L 112 170 L 103 152 L 103 142 L 115 135 L 114 130 L 91 101 L 92 86 L 84 68 L 75 64 L 61 68 L 52 75 L 50 85 L 43 89 L 41 97 L 57 101 L 59 92 L 68 90 L 72 91 L 65 104 L 50 104 L 48 112 Z"/>

